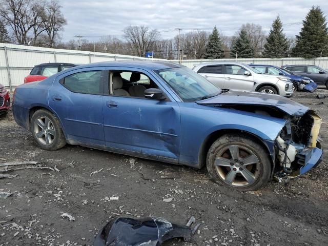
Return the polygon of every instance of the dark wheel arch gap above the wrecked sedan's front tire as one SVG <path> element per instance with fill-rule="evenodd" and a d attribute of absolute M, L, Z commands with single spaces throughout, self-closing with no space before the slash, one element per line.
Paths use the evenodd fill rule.
<path fill-rule="evenodd" d="M 274 168 L 274 158 L 272 158 L 272 155 L 274 155 L 274 153 L 271 153 L 270 151 L 270 147 L 268 146 L 267 142 L 265 142 L 261 137 L 248 132 L 248 131 L 244 131 L 244 130 L 239 130 L 239 129 L 221 129 L 221 130 L 217 130 L 212 132 L 210 135 L 208 135 L 204 141 L 202 142 L 202 145 L 199 149 L 198 152 L 198 166 L 199 168 L 202 168 L 203 166 L 206 165 L 206 157 L 207 157 L 207 153 L 210 149 L 210 147 L 212 146 L 213 142 L 218 139 L 219 137 L 223 136 L 224 134 L 238 134 L 238 135 L 242 135 L 245 137 L 249 137 L 252 140 L 256 141 L 257 144 L 261 145 L 265 152 L 271 156 L 270 157 L 270 161 L 271 161 L 271 167 L 272 170 Z"/>

